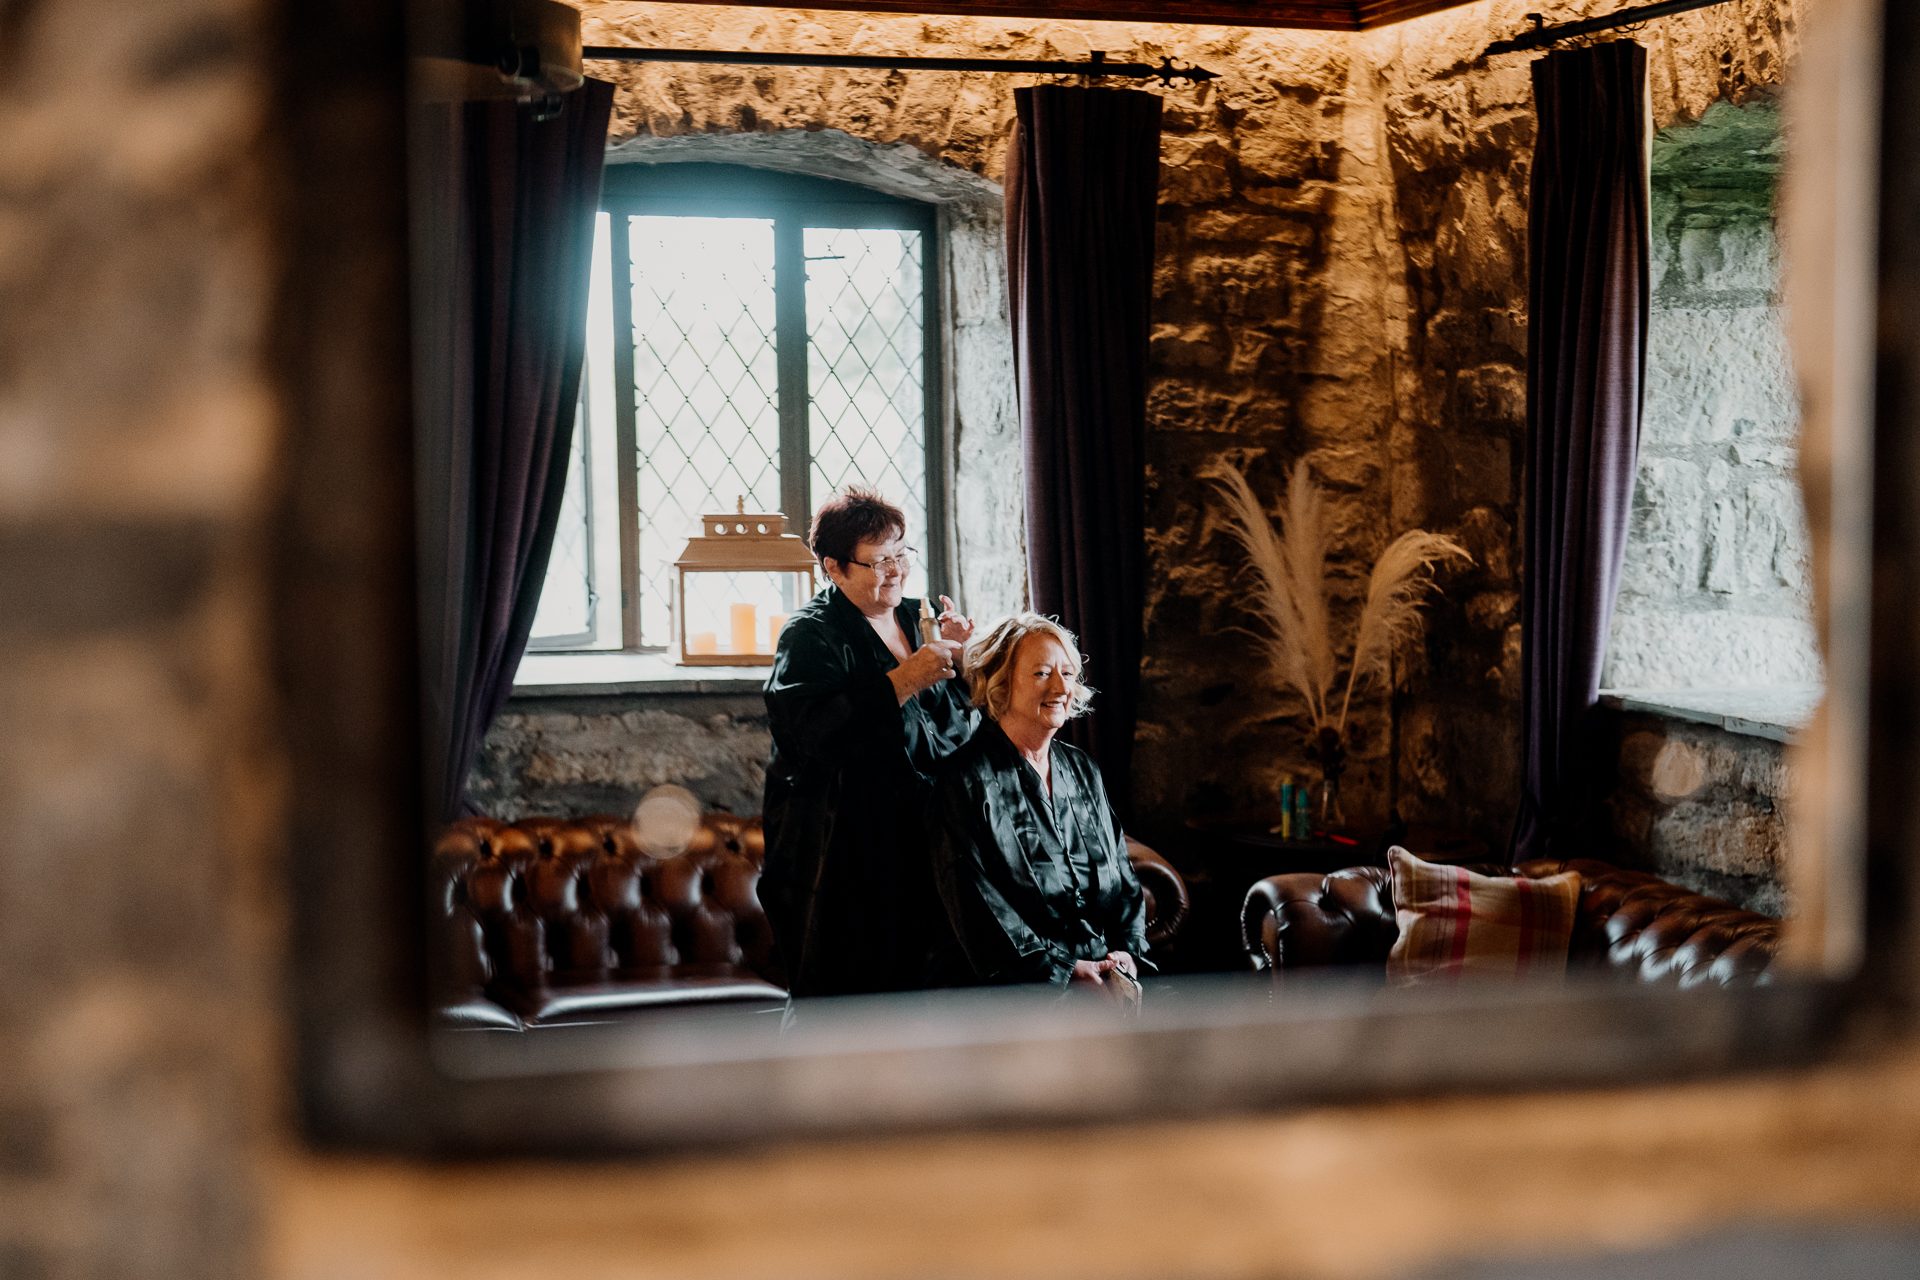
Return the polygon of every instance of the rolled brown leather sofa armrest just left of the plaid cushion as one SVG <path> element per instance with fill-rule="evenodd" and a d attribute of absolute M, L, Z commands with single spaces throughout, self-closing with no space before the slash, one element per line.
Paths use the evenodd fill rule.
<path fill-rule="evenodd" d="M 1386 867 L 1269 875 L 1240 906 L 1240 946 L 1261 973 L 1384 963 L 1398 936 Z"/>

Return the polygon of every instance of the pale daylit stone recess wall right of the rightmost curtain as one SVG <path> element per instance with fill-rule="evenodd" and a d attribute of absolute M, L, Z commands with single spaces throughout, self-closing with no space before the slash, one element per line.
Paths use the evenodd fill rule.
<path fill-rule="evenodd" d="M 1774 232 L 1784 152 L 1764 98 L 1653 140 L 1647 418 L 1607 687 L 1820 681 Z"/>

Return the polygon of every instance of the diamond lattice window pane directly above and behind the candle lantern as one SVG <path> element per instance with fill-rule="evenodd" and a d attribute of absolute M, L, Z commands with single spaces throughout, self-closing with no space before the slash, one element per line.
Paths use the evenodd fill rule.
<path fill-rule="evenodd" d="M 632 217 L 639 633 L 672 639 L 672 562 L 708 510 L 780 510 L 772 219 Z"/>

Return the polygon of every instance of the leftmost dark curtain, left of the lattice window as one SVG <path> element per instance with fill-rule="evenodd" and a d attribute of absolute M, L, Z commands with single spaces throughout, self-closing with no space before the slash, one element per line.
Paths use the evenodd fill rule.
<path fill-rule="evenodd" d="M 586 361 L 612 84 L 559 115 L 468 102 L 415 117 L 415 317 L 428 800 L 465 781 L 513 691 L 553 551 Z"/>

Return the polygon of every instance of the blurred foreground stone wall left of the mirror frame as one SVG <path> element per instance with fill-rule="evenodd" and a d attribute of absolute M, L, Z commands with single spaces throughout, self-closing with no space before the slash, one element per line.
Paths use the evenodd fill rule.
<path fill-rule="evenodd" d="M 257 1263 L 286 758 L 261 10 L 0 10 L 4 1276 Z"/>

